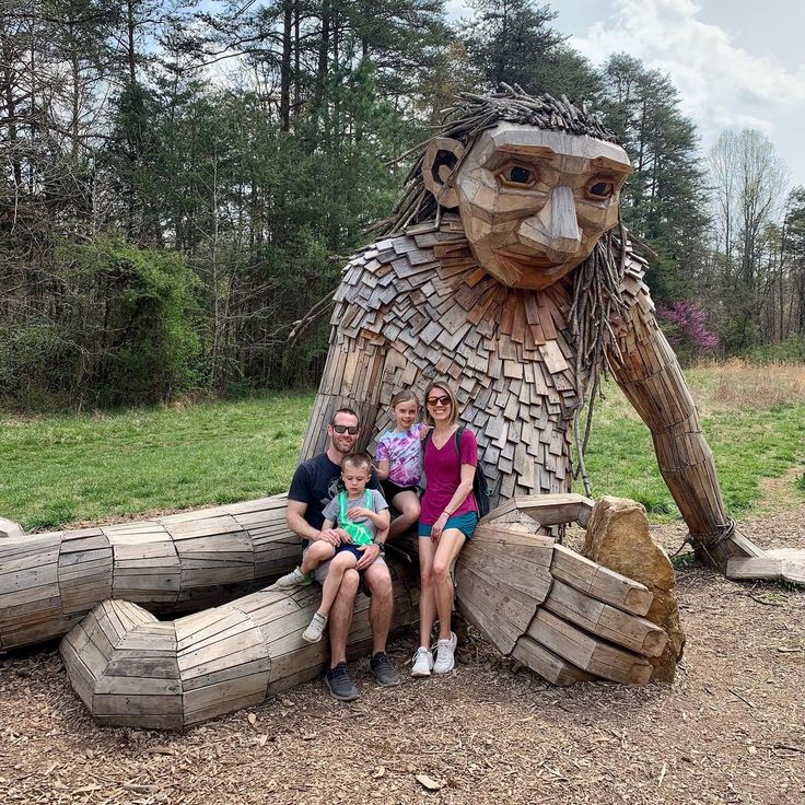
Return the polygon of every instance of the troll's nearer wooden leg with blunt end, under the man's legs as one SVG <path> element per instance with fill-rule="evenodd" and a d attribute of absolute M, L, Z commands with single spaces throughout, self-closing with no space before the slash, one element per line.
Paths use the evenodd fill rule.
<path fill-rule="evenodd" d="M 418 618 L 417 578 L 393 569 L 393 628 Z M 329 645 L 305 643 L 318 607 L 316 585 L 269 587 L 237 600 L 160 622 L 125 600 L 98 604 L 62 641 L 75 692 L 100 724 L 182 730 L 314 679 Z M 359 594 L 347 652 L 371 649 L 370 599 Z"/>

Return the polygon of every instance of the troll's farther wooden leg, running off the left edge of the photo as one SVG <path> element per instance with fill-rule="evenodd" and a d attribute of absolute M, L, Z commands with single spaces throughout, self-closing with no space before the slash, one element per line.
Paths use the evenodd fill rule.
<path fill-rule="evenodd" d="M 147 522 L 0 538 L 0 652 L 66 634 L 96 604 L 152 611 L 219 604 L 292 570 L 285 495 Z"/>

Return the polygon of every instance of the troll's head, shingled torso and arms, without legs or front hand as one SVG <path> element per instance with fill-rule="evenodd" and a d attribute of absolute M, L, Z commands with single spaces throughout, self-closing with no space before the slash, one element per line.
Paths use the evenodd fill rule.
<path fill-rule="evenodd" d="M 700 556 L 744 552 L 645 262 L 619 224 L 631 166 L 615 140 L 564 98 L 462 96 L 415 156 L 387 236 L 345 269 L 303 456 L 345 398 L 378 433 L 395 392 L 444 377 L 493 503 L 567 492 L 571 434 L 585 441 L 579 412 L 609 370 L 652 432 Z"/>

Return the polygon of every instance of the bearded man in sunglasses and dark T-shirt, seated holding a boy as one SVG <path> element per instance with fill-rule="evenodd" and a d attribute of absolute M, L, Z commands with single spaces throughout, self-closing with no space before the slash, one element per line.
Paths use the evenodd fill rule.
<path fill-rule="evenodd" d="M 340 542 L 335 528 L 322 530 L 324 509 L 338 492 L 343 458 L 355 450 L 360 435 L 360 420 L 350 408 L 340 408 L 327 425 L 327 450 L 301 464 L 293 475 L 288 492 L 288 525 L 302 539 L 325 539 L 334 546 Z M 380 491 L 377 476 L 372 471 L 370 488 Z M 347 667 L 347 635 L 352 623 L 355 593 L 363 574 L 363 583 L 372 596 L 369 621 L 372 625 L 372 660 L 370 667 L 377 684 L 383 687 L 399 685 L 400 678 L 386 656 L 386 639 L 392 625 L 392 576 L 383 553 L 386 534 L 378 534 L 366 546 L 354 570 L 343 574 L 336 602 L 330 610 L 330 667 L 325 684 L 330 695 L 340 701 L 358 697 Z M 313 575 L 322 583 L 327 576 L 329 562 L 320 564 Z"/>

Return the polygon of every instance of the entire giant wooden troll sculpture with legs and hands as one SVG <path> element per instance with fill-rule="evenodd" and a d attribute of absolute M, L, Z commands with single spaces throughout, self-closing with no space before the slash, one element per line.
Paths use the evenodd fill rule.
<path fill-rule="evenodd" d="M 643 617 L 653 597 L 645 586 L 545 534 L 590 520 L 592 501 L 569 493 L 570 431 L 583 441 L 579 411 L 605 371 L 651 429 L 699 555 L 721 568 L 762 557 L 724 511 L 642 282 L 645 265 L 619 224 L 629 173 L 611 133 L 564 98 L 464 95 L 417 154 L 388 234 L 346 268 L 302 450 L 303 458 L 324 450 L 339 407 L 355 408 L 363 433 L 377 433 L 395 392 L 421 396 L 431 380 L 447 378 L 498 505 L 459 558 L 459 606 L 504 654 L 557 684 L 645 682 L 666 646 Z M 268 588 L 163 622 L 139 605 L 225 602 L 298 557 L 283 498 L 83 532 L 10 533 L 0 538 L 0 650 L 72 630 L 62 656 L 100 722 L 198 723 L 320 672 L 326 645 L 300 637 L 317 592 Z M 410 623 L 416 573 L 400 565 L 393 576 L 394 623 Z M 359 595 L 352 656 L 369 645 L 366 609 Z"/>

